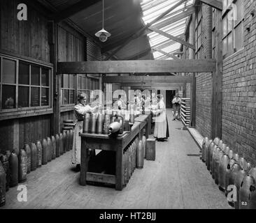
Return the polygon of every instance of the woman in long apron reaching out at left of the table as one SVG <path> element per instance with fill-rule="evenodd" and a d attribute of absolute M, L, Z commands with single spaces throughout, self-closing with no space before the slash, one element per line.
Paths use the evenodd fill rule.
<path fill-rule="evenodd" d="M 73 164 L 76 164 L 76 171 L 80 171 L 80 151 L 81 151 L 81 137 L 79 132 L 83 132 L 83 116 L 86 113 L 96 112 L 99 106 L 90 107 L 86 105 L 87 95 L 85 93 L 78 94 L 78 105 L 74 107 L 76 115 L 76 126 L 73 132 L 73 148 L 72 148 L 72 157 L 71 161 Z"/>

